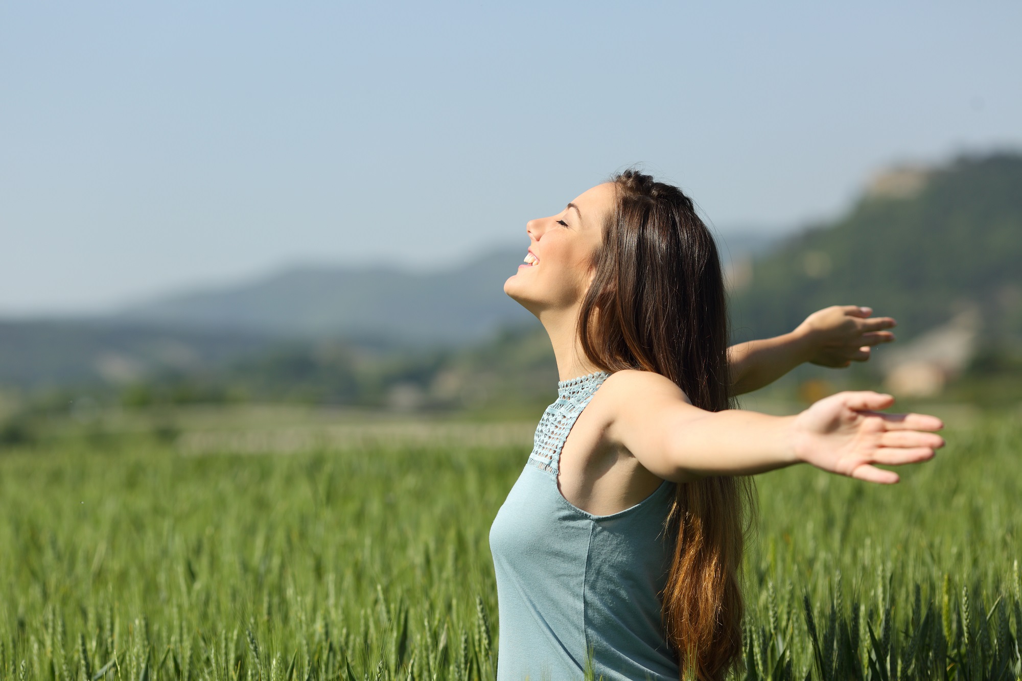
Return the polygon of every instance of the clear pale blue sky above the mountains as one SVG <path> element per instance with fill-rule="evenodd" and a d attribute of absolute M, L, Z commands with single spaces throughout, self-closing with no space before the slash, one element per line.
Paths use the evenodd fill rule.
<path fill-rule="evenodd" d="M 1022 4 L 0 4 L 0 314 L 440 269 L 644 163 L 721 229 L 1022 147 Z"/>

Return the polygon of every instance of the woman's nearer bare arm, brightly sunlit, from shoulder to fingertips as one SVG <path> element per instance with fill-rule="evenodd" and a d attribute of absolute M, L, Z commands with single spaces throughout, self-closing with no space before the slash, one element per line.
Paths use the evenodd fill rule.
<path fill-rule="evenodd" d="M 795 463 L 874 483 L 897 473 L 875 464 L 926 461 L 944 441 L 940 419 L 885 414 L 894 403 L 878 393 L 838 393 L 796 416 L 752 411 L 710 412 L 692 406 L 669 379 L 619 371 L 607 437 L 653 474 L 679 483 L 708 475 L 751 475 Z"/>

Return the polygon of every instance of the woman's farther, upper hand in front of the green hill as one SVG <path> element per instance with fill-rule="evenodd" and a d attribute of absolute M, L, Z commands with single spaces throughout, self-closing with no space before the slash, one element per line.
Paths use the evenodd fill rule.
<path fill-rule="evenodd" d="M 872 308 L 835 305 L 814 312 L 798 325 L 795 334 L 806 344 L 805 361 L 829 367 L 845 367 L 870 359 L 870 348 L 890 343 L 894 326 L 890 317 L 870 317 Z"/>

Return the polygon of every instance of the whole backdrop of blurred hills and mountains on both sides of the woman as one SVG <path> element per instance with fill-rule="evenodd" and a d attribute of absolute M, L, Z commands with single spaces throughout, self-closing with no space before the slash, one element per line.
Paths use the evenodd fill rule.
<path fill-rule="evenodd" d="M 902 340 L 969 312 L 989 371 L 1022 357 L 1020 154 L 889 171 L 833 222 L 780 241 L 738 230 L 718 239 L 737 339 L 845 303 L 895 317 Z M 502 289 L 522 252 L 433 274 L 298 268 L 113 318 L 0 322 L 0 387 L 142 381 L 422 405 L 486 401 L 473 390 L 542 393 L 541 376 L 553 375 L 549 345 Z M 429 350 L 438 346 L 447 349 Z"/>

